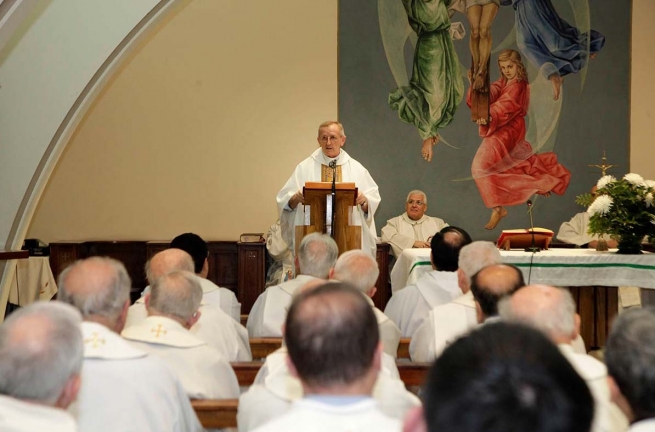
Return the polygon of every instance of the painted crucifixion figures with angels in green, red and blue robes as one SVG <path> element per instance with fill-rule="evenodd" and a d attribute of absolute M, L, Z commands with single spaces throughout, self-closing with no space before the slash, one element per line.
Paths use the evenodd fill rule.
<path fill-rule="evenodd" d="M 590 28 L 588 0 L 568 2 L 571 24 L 551 0 L 378 1 L 382 43 L 398 85 L 388 104 L 418 130 L 425 161 L 432 160 L 437 143 L 460 148 L 448 139 L 448 126 L 459 110 L 470 110 L 479 147 L 471 176 L 451 180 L 475 182 L 491 211 L 487 230 L 508 214 L 507 207 L 533 195 L 563 195 L 569 186 L 571 173 L 553 151 L 563 83 L 567 75 L 580 74 L 582 92 L 588 62 L 605 37 L 581 30 Z M 513 9 L 515 22 L 503 34 L 494 20 L 505 7 Z M 414 46 L 411 76 L 408 39 Z M 468 44 L 470 58 L 458 57 L 457 43 Z M 535 72 L 528 73 L 527 64 Z M 492 68 L 499 78 L 490 82 Z"/>

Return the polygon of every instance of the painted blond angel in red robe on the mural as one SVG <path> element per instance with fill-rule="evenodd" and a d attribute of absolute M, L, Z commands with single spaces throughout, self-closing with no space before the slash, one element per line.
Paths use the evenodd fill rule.
<path fill-rule="evenodd" d="M 485 225 L 490 230 L 507 215 L 506 206 L 523 204 L 534 194 L 562 195 L 571 177 L 555 153 L 535 154 L 525 140 L 530 88 L 521 54 L 502 51 L 498 67 L 501 77 L 490 87 L 489 120 L 477 122 L 483 140 L 471 166 L 482 201 L 491 209 Z M 470 106 L 470 87 L 467 103 Z"/>

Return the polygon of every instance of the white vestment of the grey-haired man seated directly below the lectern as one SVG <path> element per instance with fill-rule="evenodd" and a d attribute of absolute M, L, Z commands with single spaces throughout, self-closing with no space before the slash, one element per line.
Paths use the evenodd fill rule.
<path fill-rule="evenodd" d="M 282 337 L 282 324 L 287 318 L 293 293 L 315 279 L 314 276 L 298 275 L 295 279 L 266 288 L 248 314 L 248 335 L 251 338 Z"/>

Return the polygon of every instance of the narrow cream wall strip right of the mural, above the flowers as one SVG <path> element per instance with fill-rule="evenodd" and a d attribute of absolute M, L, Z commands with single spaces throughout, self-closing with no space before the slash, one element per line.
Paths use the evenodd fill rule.
<path fill-rule="evenodd" d="M 655 179 L 655 1 L 632 2 L 630 170 Z"/>

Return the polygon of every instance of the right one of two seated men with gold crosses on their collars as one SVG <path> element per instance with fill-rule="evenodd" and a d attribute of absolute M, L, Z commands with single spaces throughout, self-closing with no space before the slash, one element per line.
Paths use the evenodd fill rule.
<path fill-rule="evenodd" d="M 125 328 L 122 336 L 164 360 L 191 399 L 237 398 L 239 383 L 228 360 L 189 331 L 200 318 L 201 299 L 202 288 L 193 273 L 165 274 L 146 294 L 148 317 Z"/>

